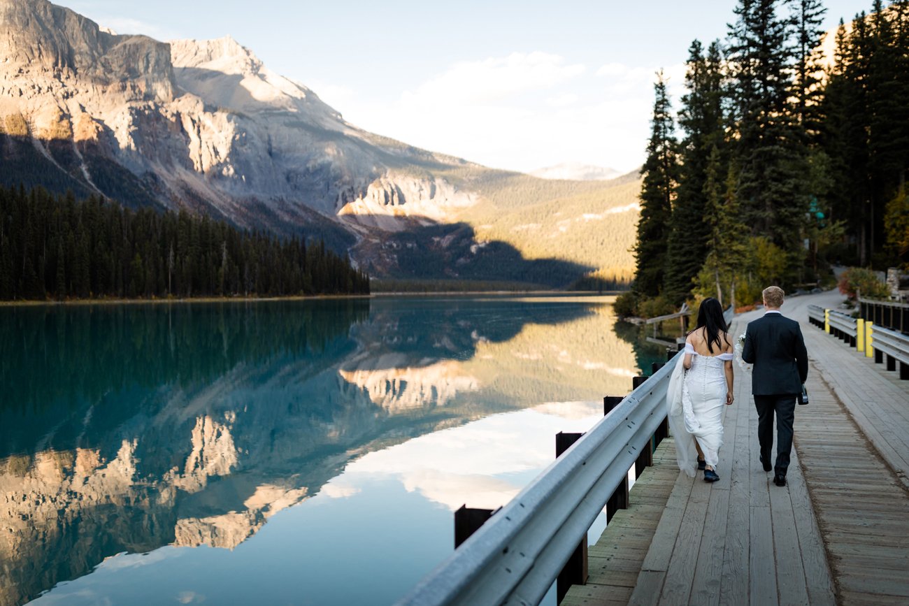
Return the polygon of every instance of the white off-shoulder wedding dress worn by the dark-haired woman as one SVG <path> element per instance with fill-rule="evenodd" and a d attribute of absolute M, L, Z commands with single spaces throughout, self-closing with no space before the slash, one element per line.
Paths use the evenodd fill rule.
<path fill-rule="evenodd" d="M 691 343 L 685 343 L 684 353 L 692 355 L 691 368 L 686 372 L 681 359 L 675 363 L 666 392 L 666 412 L 679 469 L 694 477 L 697 470 L 694 438 L 701 445 L 708 465 L 716 469 L 719 462 L 726 403 L 724 365 L 733 359 L 733 354 L 699 355 Z"/>

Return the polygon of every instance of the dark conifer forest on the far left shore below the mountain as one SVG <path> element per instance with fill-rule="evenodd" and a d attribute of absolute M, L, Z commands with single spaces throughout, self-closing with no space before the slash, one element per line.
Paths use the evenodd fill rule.
<path fill-rule="evenodd" d="M 0 299 L 369 293 L 368 276 L 305 238 L 185 210 L 0 187 Z"/>

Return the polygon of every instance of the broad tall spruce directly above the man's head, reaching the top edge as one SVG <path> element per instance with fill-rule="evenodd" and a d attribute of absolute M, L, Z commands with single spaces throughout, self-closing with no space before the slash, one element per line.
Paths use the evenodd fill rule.
<path fill-rule="evenodd" d="M 790 280 L 804 261 L 802 228 L 808 209 L 808 150 L 791 104 L 795 45 L 780 0 L 740 0 L 730 26 L 729 61 L 739 134 L 738 199 L 755 235 L 788 253 Z"/>

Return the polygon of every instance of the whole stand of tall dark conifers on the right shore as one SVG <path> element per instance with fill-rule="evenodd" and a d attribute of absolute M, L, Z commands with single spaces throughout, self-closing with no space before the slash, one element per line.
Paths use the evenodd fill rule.
<path fill-rule="evenodd" d="M 622 313 L 909 260 L 909 1 L 841 21 L 832 59 L 824 11 L 739 0 L 724 41 L 692 43 L 676 114 L 660 75 Z"/>

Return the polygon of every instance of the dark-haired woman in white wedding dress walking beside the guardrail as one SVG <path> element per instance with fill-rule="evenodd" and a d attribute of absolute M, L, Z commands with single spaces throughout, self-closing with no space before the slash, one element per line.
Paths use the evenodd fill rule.
<path fill-rule="evenodd" d="M 733 343 L 714 298 L 704 299 L 697 327 L 684 343 L 684 360 L 675 364 L 666 395 L 669 426 L 675 438 L 679 469 L 705 482 L 716 482 L 717 452 L 723 444 L 723 407 L 733 403 Z"/>

